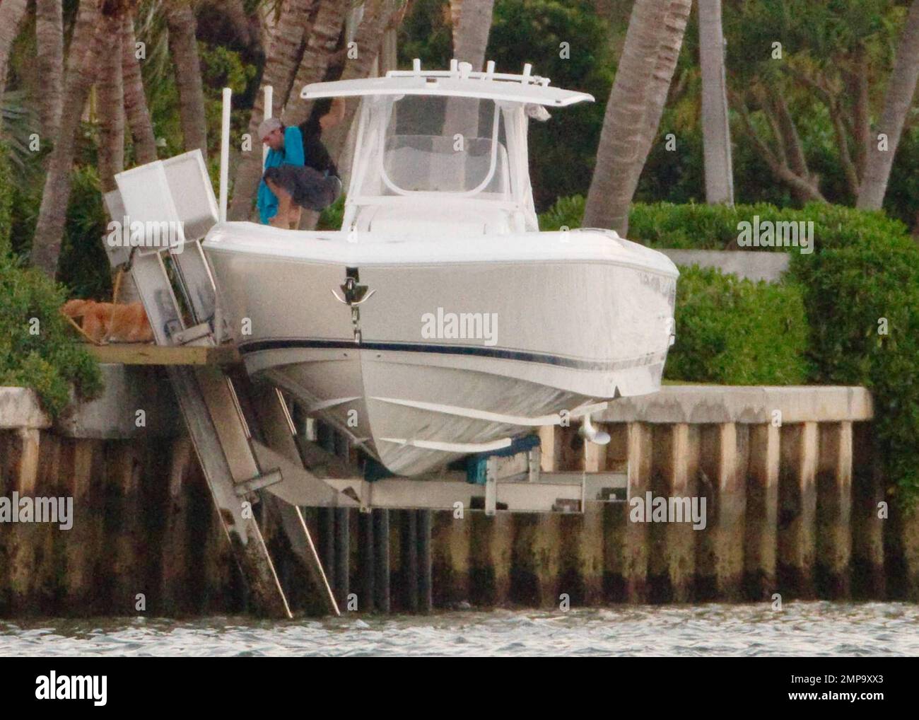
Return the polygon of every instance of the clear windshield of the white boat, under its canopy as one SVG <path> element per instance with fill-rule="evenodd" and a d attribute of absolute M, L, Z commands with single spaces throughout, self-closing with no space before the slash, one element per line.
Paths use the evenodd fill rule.
<path fill-rule="evenodd" d="M 370 124 L 362 195 L 510 196 L 502 113 L 478 97 L 404 96 Z"/>

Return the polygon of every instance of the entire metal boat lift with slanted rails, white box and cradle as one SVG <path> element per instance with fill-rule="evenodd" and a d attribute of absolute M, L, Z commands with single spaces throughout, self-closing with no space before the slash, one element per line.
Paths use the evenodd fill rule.
<path fill-rule="evenodd" d="M 266 109 L 270 112 L 271 105 Z M 113 267 L 130 270 L 158 345 L 217 347 L 229 337 L 200 242 L 225 222 L 229 168 L 230 90 L 223 91 L 220 201 L 199 150 L 138 166 L 116 176 L 108 213 L 142 228 L 136 246 L 112 247 Z M 134 223 L 141 223 L 135 225 Z M 134 244 L 132 242 L 132 244 Z M 540 471 L 539 441 L 472 456 L 465 470 L 373 479 L 298 433 L 278 389 L 255 386 L 244 372 L 217 365 L 169 366 L 221 525 L 256 605 L 272 617 L 292 617 L 252 506 L 278 513 L 290 546 L 308 568 L 330 612 L 340 614 L 301 507 L 443 509 L 497 512 L 583 512 L 588 502 L 627 500 L 628 470 L 607 473 Z M 561 424 L 561 423 L 560 423 Z M 608 441 L 583 421 L 582 437 Z"/>

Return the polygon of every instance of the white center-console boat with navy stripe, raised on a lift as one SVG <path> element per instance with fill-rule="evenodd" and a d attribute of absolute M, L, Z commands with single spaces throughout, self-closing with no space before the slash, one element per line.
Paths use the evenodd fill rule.
<path fill-rule="evenodd" d="M 400 475 L 658 390 L 674 264 L 611 231 L 540 233 L 533 206 L 530 117 L 593 97 L 417 61 L 302 91 L 351 96 L 342 229 L 218 223 L 203 244 L 250 374 Z"/>

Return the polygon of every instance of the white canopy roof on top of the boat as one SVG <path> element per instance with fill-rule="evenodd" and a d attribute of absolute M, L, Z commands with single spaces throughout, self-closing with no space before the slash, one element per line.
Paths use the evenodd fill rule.
<path fill-rule="evenodd" d="M 528 75 L 471 73 L 463 76 L 449 71 L 424 73 L 391 71 L 386 77 L 313 83 L 305 86 L 301 91 L 301 97 L 305 100 L 318 97 L 364 95 L 482 97 L 491 100 L 545 105 L 552 108 L 564 108 L 585 100 L 594 101 L 594 97 L 587 93 L 550 87 L 548 80 Z"/>

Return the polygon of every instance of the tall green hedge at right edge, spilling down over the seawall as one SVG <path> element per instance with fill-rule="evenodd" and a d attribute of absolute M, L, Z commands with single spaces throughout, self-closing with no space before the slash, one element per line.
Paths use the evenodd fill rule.
<path fill-rule="evenodd" d="M 792 257 L 811 320 L 812 381 L 863 384 L 891 492 L 919 497 L 919 246 L 867 235 Z M 886 334 L 884 333 L 886 331 Z"/>

